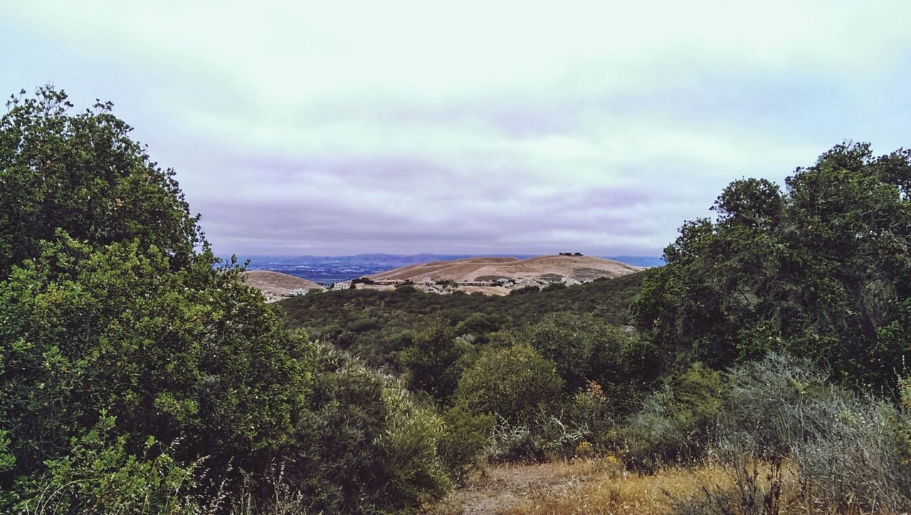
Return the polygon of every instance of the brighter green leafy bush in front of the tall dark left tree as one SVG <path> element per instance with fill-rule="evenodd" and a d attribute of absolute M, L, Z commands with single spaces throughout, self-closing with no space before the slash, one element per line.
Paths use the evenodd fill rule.
<path fill-rule="evenodd" d="M 146 435 L 188 437 L 185 456 L 212 464 L 256 470 L 289 438 L 310 380 L 306 344 L 237 269 L 211 263 L 171 271 L 157 247 L 93 249 L 60 234 L 13 268 L 0 283 L 0 413 L 14 475 L 41 470 L 103 410 L 130 449 Z"/>

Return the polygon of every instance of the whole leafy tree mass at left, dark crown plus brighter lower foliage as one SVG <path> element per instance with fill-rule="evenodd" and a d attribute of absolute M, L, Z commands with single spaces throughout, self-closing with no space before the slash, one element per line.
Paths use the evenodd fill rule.
<path fill-rule="evenodd" d="M 109 108 L 74 115 L 43 87 L 0 118 L 0 511 L 35 510 L 99 427 L 125 467 L 167 453 L 204 458 L 214 484 L 266 475 L 307 407 L 312 347 L 213 256 L 172 172 Z M 67 510 L 148 495 L 105 504 L 83 488 L 117 475 L 98 463 L 67 480 L 96 492 Z"/>

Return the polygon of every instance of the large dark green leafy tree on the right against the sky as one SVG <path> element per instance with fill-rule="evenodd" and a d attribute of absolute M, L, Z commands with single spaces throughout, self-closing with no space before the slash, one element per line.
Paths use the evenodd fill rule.
<path fill-rule="evenodd" d="M 734 181 L 715 219 L 687 222 L 633 310 L 681 360 L 717 365 L 789 349 L 856 383 L 911 358 L 911 152 L 844 144 L 786 190 Z"/>

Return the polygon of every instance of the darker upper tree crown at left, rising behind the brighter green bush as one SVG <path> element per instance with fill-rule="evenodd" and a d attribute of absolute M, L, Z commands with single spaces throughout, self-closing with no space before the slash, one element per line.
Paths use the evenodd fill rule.
<path fill-rule="evenodd" d="M 0 118 L 0 280 L 58 229 L 97 245 L 136 239 L 185 265 L 202 243 L 197 217 L 112 105 L 72 115 L 52 86 L 22 95 Z"/>

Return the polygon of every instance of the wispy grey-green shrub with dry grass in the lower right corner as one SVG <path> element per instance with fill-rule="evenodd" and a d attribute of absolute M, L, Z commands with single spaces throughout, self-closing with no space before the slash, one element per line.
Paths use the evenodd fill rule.
<path fill-rule="evenodd" d="M 797 501 L 833 512 L 911 505 L 911 417 L 828 385 L 826 376 L 775 354 L 729 370 L 710 452 L 731 475 L 732 489 L 705 486 L 701 506 L 759 513 Z M 789 475 L 799 489 L 785 488 Z M 786 490 L 797 493 L 784 500 Z"/>

